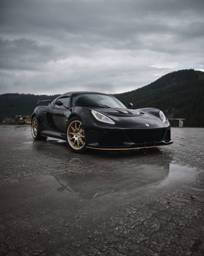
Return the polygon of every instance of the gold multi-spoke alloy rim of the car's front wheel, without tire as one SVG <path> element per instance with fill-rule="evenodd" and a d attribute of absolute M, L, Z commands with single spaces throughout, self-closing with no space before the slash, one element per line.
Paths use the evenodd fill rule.
<path fill-rule="evenodd" d="M 74 120 L 67 129 L 67 140 L 74 149 L 80 149 L 85 145 L 85 135 L 82 122 Z"/>

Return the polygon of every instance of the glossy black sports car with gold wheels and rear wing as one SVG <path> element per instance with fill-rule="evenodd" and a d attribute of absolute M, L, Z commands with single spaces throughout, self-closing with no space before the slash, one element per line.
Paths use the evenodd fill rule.
<path fill-rule="evenodd" d="M 161 110 L 128 109 L 116 97 L 99 92 L 67 92 L 48 106 L 37 106 L 31 126 L 35 140 L 59 138 L 78 153 L 86 148 L 121 150 L 173 143 Z"/>

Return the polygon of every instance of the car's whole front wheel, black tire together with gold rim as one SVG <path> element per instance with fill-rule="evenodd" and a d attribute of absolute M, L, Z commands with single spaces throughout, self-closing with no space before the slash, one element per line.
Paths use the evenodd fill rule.
<path fill-rule="evenodd" d="M 67 146 L 76 153 L 86 151 L 86 138 L 82 120 L 79 117 L 70 118 L 67 125 Z"/>

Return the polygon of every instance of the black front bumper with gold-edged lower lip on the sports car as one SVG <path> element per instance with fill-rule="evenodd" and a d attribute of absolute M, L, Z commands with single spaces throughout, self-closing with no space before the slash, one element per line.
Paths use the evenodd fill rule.
<path fill-rule="evenodd" d="M 87 148 L 124 150 L 168 146 L 171 140 L 170 125 L 162 128 L 86 128 Z"/>

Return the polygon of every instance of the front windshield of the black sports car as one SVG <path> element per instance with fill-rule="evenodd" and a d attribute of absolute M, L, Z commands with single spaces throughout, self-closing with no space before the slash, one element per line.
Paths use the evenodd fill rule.
<path fill-rule="evenodd" d="M 72 105 L 86 106 L 88 108 L 126 108 L 119 100 L 111 95 L 103 94 L 77 94 L 72 98 Z"/>

